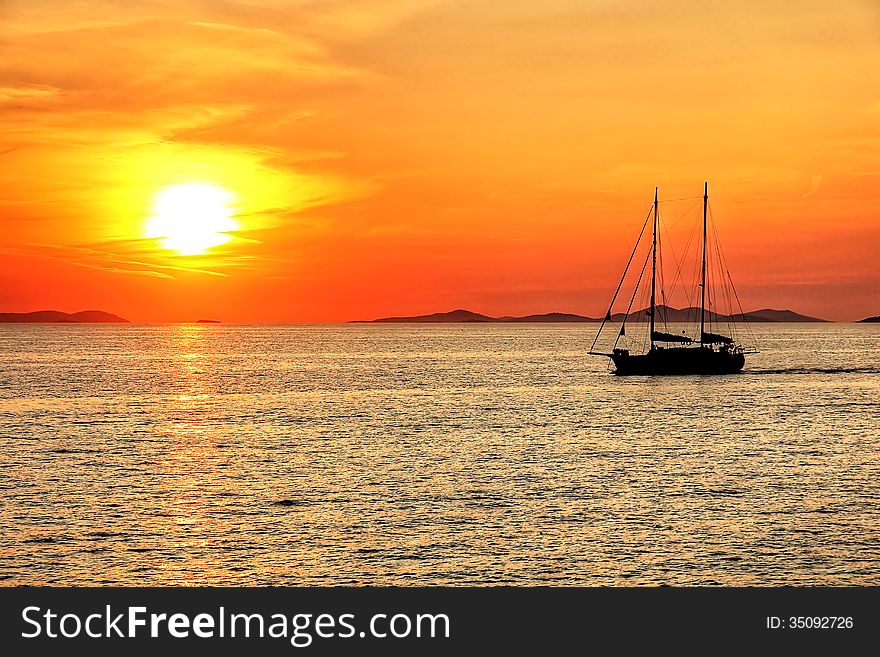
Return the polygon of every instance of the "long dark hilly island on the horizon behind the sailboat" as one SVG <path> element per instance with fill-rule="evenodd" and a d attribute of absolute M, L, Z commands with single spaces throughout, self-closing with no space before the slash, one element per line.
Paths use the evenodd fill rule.
<path fill-rule="evenodd" d="M 646 308 L 630 314 L 630 322 L 644 322 L 647 314 Z M 699 317 L 699 308 L 672 308 L 671 306 L 657 306 L 657 317 L 667 322 L 687 322 Z M 753 310 L 744 315 L 721 315 L 706 311 L 706 319 L 712 322 L 726 322 L 742 320 L 745 317 L 749 322 L 826 322 L 828 320 L 801 315 L 793 310 L 774 310 L 764 308 Z M 619 322 L 623 320 L 623 313 L 615 313 L 611 320 Z M 371 320 L 355 320 L 351 324 L 476 324 L 476 323 L 559 323 L 559 322 L 601 322 L 601 317 L 586 317 L 572 313 L 544 313 L 540 315 L 525 315 L 523 317 L 490 317 L 481 315 L 471 310 L 452 310 L 445 313 L 431 313 L 430 315 L 415 315 L 412 317 L 382 317 Z M 863 321 L 877 321 L 877 318 Z"/>

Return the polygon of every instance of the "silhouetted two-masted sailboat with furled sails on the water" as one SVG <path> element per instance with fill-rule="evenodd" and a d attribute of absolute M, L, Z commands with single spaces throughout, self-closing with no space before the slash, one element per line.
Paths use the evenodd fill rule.
<path fill-rule="evenodd" d="M 699 328 L 693 328 L 693 331 L 696 331 L 696 336 L 691 337 L 692 332 L 688 332 L 688 330 L 681 330 L 680 332 L 672 332 L 672 330 L 668 327 L 669 315 L 673 314 L 670 311 L 674 311 L 674 309 L 670 308 L 665 303 L 658 304 L 657 303 L 657 293 L 658 288 L 662 295 L 666 296 L 666 291 L 661 286 L 658 285 L 658 228 L 659 228 L 659 190 L 657 188 L 654 189 L 654 204 L 653 211 L 648 214 L 648 217 L 645 218 L 645 222 L 642 226 L 642 232 L 639 234 L 639 239 L 636 241 L 636 247 L 633 249 L 632 255 L 630 256 L 629 262 L 627 263 L 626 268 L 624 269 L 623 276 L 621 277 L 620 283 L 617 286 L 617 291 L 614 293 L 614 296 L 611 300 L 611 304 L 608 307 L 608 312 L 605 315 L 605 319 L 602 322 L 602 325 L 599 327 L 599 331 L 596 334 L 596 339 L 593 341 L 593 346 L 590 348 L 590 354 L 594 356 L 605 356 L 609 357 L 611 361 L 614 363 L 615 370 L 614 373 L 618 375 L 671 375 L 671 374 L 734 374 L 742 371 L 745 365 L 745 355 L 747 353 L 754 353 L 756 350 L 753 348 L 747 348 L 740 344 L 735 335 L 733 335 L 733 322 L 736 317 L 735 314 L 720 314 L 713 310 L 709 310 L 707 308 L 708 303 L 714 304 L 714 297 L 711 292 L 707 289 L 707 235 L 708 235 L 708 221 L 707 221 L 707 209 L 709 206 L 709 184 L 706 183 L 703 187 L 703 213 L 702 213 L 702 250 L 701 250 L 701 264 L 700 264 L 700 276 L 699 276 L 699 284 L 697 288 L 694 288 L 694 291 L 698 289 L 700 296 L 700 305 L 699 308 L 690 307 L 685 309 L 685 311 L 676 311 L 679 314 L 684 312 L 687 314 L 687 311 L 693 311 L 693 323 L 699 324 Z M 610 351 L 597 351 L 596 345 L 599 341 L 600 336 L 603 333 L 603 329 L 609 323 L 613 323 L 614 315 L 612 315 L 612 310 L 617 300 L 618 295 L 621 292 L 621 289 L 624 284 L 624 280 L 627 277 L 627 273 L 630 270 L 630 266 L 632 265 L 633 258 L 636 255 L 637 249 L 639 247 L 639 243 L 642 239 L 642 236 L 645 233 L 645 228 L 647 227 L 648 220 L 653 217 L 653 231 L 652 231 L 652 244 L 650 250 L 648 251 L 644 264 L 642 266 L 641 272 L 639 273 L 638 281 L 635 284 L 635 288 L 630 298 L 629 306 L 626 309 L 626 312 L 622 315 L 622 322 L 619 330 L 617 331 L 617 337 L 614 340 L 614 344 Z M 717 235 L 716 235 L 717 242 Z M 720 246 L 718 247 L 720 249 Z M 718 262 L 723 264 L 720 256 L 718 257 Z M 645 268 L 648 263 L 648 259 L 651 261 L 651 281 L 650 281 L 650 306 L 645 308 L 642 311 L 637 311 L 636 313 L 632 312 L 632 304 L 636 298 L 636 294 L 639 290 L 640 284 L 643 279 L 643 274 L 645 273 Z M 681 263 L 676 263 L 678 266 L 679 275 L 681 274 Z M 723 268 L 724 272 L 727 272 L 726 267 Z M 724 280 L 723 276 L 721 277 Z M 730 282 L 730 288 L 733 289 L 733 283 L 730 281 L 729 272 L 727 272 L 727 279 L 724 280 L 725 283 Z M 733 289 L 733 295 L 723 294 L 722 297 L 727 299 L 728 301 L 732 298 L 736 298 L 737 304 L 739 304 L 739 297 L 736 295 L 735 289 Z M 708 296 L 708 303 L 707 303 Z M 742 311 L 742 307 L 739 307 L 739 317 L 743 320 L 745 316 Z M 617 315 L 620 317 L 620 315 Z M 633 319 L 633 321 L 638 321 L 641 319 L 643 322 L 647 320 L 648 333 L 647 340 L 643 342 L 641 345 L 640 352 L 634 353 L 632 346 L 626 346 L 621 344 L 621 341 L 626 338 L 626 326 L 627 320 Z M 726 323 L 730 330 L 726 331 L 726 333 L 731 333 L 731 335 L 726 335 L 725 333 L 715 332 L 716 329 L 714 325 Z M 662 324 L 663 328 L 666 330 L 658 330 L 658 326 Z"/>

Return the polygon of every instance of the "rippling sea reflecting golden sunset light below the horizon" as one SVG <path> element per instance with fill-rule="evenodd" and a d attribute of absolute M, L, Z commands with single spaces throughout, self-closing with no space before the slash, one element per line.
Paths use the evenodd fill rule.
<path fill-rule="evenodd" d="M 0 583 L 880 585 L 880 325 L 594 331 L 0 326 Z"/>

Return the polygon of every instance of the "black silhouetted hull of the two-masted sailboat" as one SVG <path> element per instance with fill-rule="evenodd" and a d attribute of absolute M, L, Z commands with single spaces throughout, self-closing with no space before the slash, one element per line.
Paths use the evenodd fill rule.
<path fill-rule="evenodd" d="M 708 347 L 654 348 L 646 354 L 625 350 L 611 355 L 616 371 L 626 375 L 736 374 L 746 359 L 736 351 L 716 351 Z"/>

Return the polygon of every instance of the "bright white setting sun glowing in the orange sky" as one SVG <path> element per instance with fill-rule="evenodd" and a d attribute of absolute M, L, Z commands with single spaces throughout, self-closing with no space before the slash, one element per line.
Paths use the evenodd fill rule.
<path fill-rule="evenodd" d="M 232 218 L 235 195 L 213 183 L 186 183 L 164 187 L 153 202 L 145 235 L 161 240 L 181 255 L 200 255 L 225 244 L 238 230 Z"/>

